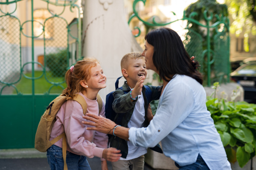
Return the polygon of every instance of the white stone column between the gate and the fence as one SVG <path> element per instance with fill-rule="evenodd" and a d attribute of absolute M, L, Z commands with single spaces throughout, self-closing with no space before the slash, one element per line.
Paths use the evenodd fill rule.
<path fill-rule="evenodd" d="M 83 10 L 82 55 L 99 59 L 107 77 L 107 88 L 99 91 L 105 100 L 115 90 L 116 78 L 122 76 L 122 57 L 143 50 L 128 27 L 123 0 L 84 0 Z M 119 82 L 119 87 L 122 83 Z"/>

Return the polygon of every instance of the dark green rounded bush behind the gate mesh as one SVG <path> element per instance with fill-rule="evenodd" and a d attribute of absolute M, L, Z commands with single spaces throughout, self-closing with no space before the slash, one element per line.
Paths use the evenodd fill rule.
<path fill-rule="evenodd" d="M 45 55 L 46 66 L 54 77 L 63 77 L 67 71 L 67 49 Z"/>

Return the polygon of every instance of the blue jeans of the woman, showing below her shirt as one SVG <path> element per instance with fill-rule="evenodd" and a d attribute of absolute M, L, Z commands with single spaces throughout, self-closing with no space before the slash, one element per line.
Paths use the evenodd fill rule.
<path fill-rule="evenodd" d="M 210 170 L 200 154 L 198 154 L 198 157 L 194 164 L 189 164 L 181 167 L 175 162 L 175 165 L 176 167 L 180 168 L 179 170 Z"/>

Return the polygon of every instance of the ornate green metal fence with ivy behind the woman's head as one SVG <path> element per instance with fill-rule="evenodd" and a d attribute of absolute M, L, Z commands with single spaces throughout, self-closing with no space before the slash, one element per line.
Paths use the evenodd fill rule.
<path fill-rule="evenodd" d="M 177 19 L 167 23 L 157 23 L 156 16 L 152 17 L 152 21 L 143 20 L 136 10 L 137 3 L 142 1 L 145 5 L 146 0 L 134 0 L 133 11 L 131 14 L 128 24 L 134 17 L 137 17 L 138 20 L 142 21 L 143 24 L 147 27 L 162 27 L 169 24 L 175 23 L 179 20 L 187 21 L 187 27 L 184 28 L 187 30 L 186 39 L 183 41 L 186 51 L 190 56 L 195 56 L 201 65 L 200 71 L 204 75 L 204 79 L 207 80 L 206 85 L 210 86 L 213 82 L 230 82 L 230 37 L 229 37 L 229 19 L 224 17 L 224 14 L 213 16 L 212 12 L 205 10 L 204 11 L 204 20 L 198 21 L 194 17 L 198 15 L 196 12 L 192 12 L 189 16 L 186 16 L 186 11 L 183 11 L 183 18 Z M 175 16 L 176 14 L 172 12 Z M 191 25 L 196 24 L 202 30 L 206 30 L 206 34 L 196 32 L 192 29 Z M 138 29 L 139 33 L 135 35 L 138 37 L 141 33 L 140 28 Z M 212 34 L 212 33 L 216 34 Z M 205 45 L 203 45 L 205 44 Z"/>

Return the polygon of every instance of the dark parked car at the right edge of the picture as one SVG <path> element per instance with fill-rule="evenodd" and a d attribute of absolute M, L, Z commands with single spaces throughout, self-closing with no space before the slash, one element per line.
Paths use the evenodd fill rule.
<path fill-rule="evenodd" d="M 230 77 L 244 88 L 244 101 L 256 103 L 256 61 L 241 65 Z"/>

